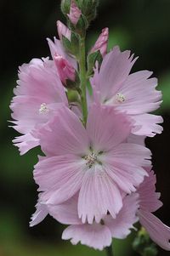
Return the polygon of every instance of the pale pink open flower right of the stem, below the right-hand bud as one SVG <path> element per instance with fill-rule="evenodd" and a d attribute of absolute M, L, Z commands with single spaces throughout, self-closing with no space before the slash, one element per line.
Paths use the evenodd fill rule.
<path fill-rule="evenodd" d="M 126 111 L 135 121 L 133 134 L 152 137 L 161 134 L 162 128 L 157 123 L 162 122 L 162 118 L 148 112 L 160 106 L 161 92 L 156 90 L 156 78 L 149 78 L 152 72 L 129 75 L 136 60 L 130 51 L 121 52 L 118 47 L 106 54 L 100 70 L 96 68 L 91 79 L 94 100 Z"/>

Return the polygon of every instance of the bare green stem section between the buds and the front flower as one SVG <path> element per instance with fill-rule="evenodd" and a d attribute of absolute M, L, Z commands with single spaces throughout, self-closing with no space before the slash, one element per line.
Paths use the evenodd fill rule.
<path fill-rule="evenodd" d="M 87 117 L 88 117 L 88 105 L 86 98 L 86 52 L 85 52 L 85 38 L 80 37 L 79 44 L 79 69 L 80 69 L 80 82 L 81 82 L 81 101 L 82 101 L 82 122 L 86 126 Z"/>

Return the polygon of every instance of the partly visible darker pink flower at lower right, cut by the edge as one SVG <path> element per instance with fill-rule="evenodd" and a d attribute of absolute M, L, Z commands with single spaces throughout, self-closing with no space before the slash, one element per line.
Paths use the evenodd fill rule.
<path fill-rule="evenodd" d="M 154 242 L 163 249 L 170 251 L 170 227 L 164 225 L 160 219 L 152 214 L 162 206 L 159 200 L 160 193 L 156 193 L 155 184 L 156 176 L 151 171 L 149 177 L 145 177 L 144 182 L 139 186 L 139 222 L 148 231 Z"/>

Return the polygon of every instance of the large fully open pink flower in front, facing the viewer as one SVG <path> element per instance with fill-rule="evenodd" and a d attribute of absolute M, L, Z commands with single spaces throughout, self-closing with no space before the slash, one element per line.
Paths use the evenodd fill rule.
<path fill-rule="evenodd" d="M 132 129 L 128 118 L 111 107 L 93 105 L 87 128 L 68 108 L 39 131 L 46 154 L 35 166 L 34 178 L 47 204 L 65 202 L 78 192 L 82 223 L 99 222 L 108 211 L 122 208 L 122 194 L 136 191 L 147 175 L 150 151 L 126 142 Z"/>

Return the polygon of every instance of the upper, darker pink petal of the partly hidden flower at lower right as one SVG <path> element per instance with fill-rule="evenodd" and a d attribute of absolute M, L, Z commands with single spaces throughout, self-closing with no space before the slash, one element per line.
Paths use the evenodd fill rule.
<path fill-rule="evenodd" d="M 153 171 L 148 171 L 148 174 L 149 176 L 144 177 L 143 183 L 138 188 L 140 209 L 156 212 L 162 206 L 159 200 L 161 194 L 156 192 L 156 174 Z"/>

